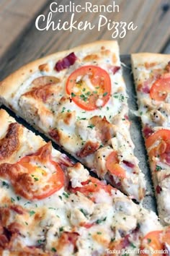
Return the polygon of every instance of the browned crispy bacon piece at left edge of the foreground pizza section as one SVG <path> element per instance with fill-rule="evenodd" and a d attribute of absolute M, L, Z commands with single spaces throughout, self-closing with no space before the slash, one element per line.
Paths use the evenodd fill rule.
<path fill-rule="evenodd" d="M 19 148 L 19 124 L 9 124 L 6 136 L 0 140 L 0 161 L 8 158 Z"/>

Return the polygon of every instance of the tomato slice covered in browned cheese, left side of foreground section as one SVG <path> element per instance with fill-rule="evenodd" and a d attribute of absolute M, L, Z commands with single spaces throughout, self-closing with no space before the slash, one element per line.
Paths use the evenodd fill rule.
<path fill-rule="evenodd" d="M 49 142 L 14 164 L 18 174 L 12 184 L 17 194 L 28 200 L 41 200 L 63 187 L 64 174 L 58 163 L 51 160 L 51 150 Z"/>

